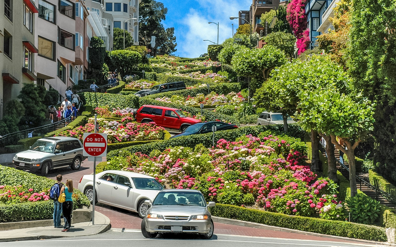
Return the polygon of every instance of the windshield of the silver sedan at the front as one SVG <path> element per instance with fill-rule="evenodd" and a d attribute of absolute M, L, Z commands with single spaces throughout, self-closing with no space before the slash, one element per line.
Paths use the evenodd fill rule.
<path fill-rule="evenodd" d="M 186 192 L 162 191 L 158 193 L 152 205 L 153 206 L 180 205 L 180 206 L 205 207 L 206 201 L 201 193 L 195 191 L 186 191 Z"/>

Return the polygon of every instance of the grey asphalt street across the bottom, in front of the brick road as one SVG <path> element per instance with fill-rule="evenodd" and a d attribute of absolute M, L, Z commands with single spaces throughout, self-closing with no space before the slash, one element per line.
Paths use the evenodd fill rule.
<path fill-rule="evenodd" d="M 195 234 L 163 234 L 154 239 L 146 239 L 139 230 L 109 230 L 103 234 L 70 237 L 60 239 L 16 241 L 0 243 L 0 247 L 99 247 L 99 246 L 171 246 L 171 247 L 357 247 L 386 246 L 360 243 L 337 243 L 330 241 L 284 239 L 267 237 L 247 237 L 238 235 L 217 234 L 212 239 L 200 239 Z"/>

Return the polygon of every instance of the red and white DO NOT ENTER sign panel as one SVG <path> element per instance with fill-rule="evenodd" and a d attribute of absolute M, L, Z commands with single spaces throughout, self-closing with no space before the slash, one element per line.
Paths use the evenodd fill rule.
<path fill-rule="evenodd" d="M 107 134 L 84 133 L 84 156 L 105 157 L 107 155 Z"/>

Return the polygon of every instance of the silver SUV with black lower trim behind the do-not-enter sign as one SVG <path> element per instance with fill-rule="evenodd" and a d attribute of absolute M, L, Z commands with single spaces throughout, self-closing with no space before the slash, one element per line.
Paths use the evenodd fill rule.
<path fill-rule="evenodd" d="M 38 139 L 29 150 L 17 153 L 12 162 L 18 170 L 41 171 L 47 175 L 49 170 L 63 167 L 78 170 L 85 159 L 80 140 L 57 136 Z"/>

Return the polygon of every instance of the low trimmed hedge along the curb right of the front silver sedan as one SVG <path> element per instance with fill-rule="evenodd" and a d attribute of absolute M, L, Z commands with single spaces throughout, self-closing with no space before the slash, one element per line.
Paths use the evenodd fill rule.
<path fill-rule="evenodd" d="M 292 216 L 223 204 L 216 204 L 215 207 L 212 207 L 211 214 L 217 217 L 256 222 L 306 232 L 372 241 L 387 241 L 385 228 L 379 226 Z"/>

